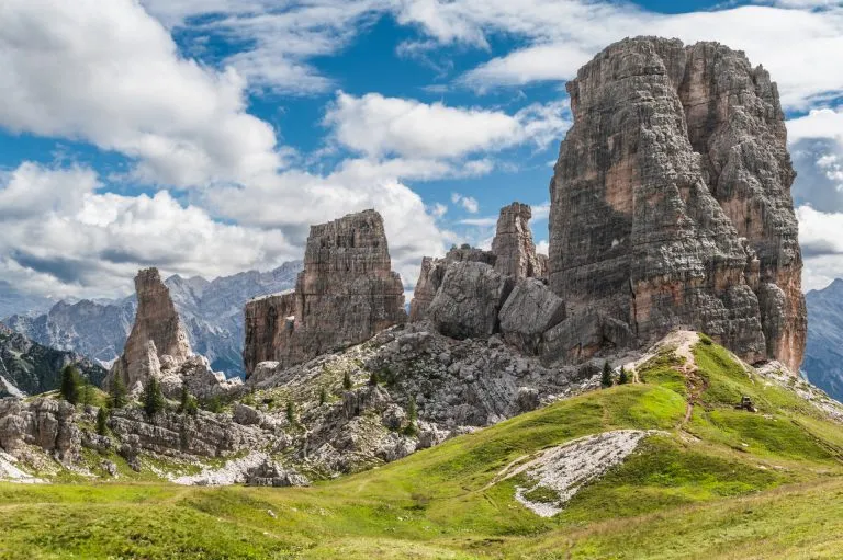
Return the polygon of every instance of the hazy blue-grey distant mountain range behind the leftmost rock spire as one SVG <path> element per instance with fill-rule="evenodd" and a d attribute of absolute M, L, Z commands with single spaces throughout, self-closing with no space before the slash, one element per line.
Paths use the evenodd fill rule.
<path fill-rule="evenodd" d="M 215 370 L 232 377 L 244 374 L 244 305 L 255 296 L 294 287 L 301 270 L 302 262 L 293 261 L 266 273 L 248 271 L 214 281 L 176 275 L 165 283 L 188 331 L 193 352 L 207 357 Z M 0 292 L 5 288 L 8 285 L 0 284 Z M 9 305 L 16 301 L 24 306 L 14 309 L 15 315 L 2 320 L 3 323 L 34 342 L 77 352 L 106 367 L 123 351 L 135 318 L 134 295 L 112 302 L 58 301 L 46 313 L 42 310 L 43 315 L 34 315 L 33 309 L 25 307 L 41 301 L 27 301 L 19 296 L 4 298 L 0 293 L 0 301 L 8 300 Z"/>

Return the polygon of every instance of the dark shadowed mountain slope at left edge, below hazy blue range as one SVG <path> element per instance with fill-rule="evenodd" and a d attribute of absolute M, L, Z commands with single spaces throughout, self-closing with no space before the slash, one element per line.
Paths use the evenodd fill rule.
<path fill-rule="evenodd" d="M 98 364 L 72 352 L 32 342 L 0 323 L 0 397 L 57 389 L 61 369 L 70 364 L 93 385 L 105 378 L 105 369 Z"/>

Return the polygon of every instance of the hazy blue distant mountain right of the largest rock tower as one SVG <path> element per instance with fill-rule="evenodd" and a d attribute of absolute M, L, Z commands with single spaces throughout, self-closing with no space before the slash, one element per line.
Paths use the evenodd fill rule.
<path fill-rule="evenodd" d="M 808 344 L 802 372 L 808 380 L 843 402 L 843 279 L 806 294 Z"/>

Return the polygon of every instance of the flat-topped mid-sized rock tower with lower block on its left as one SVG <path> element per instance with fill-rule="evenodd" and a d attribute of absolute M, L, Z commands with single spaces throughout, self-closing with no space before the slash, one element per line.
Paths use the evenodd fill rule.
<path fill-rule="evenodd" d="M 392 272 L 380 214 L 364 210 L 311 227 L 295 293 L 250 301 L 246 317 L 244 359 L 251 367 L 269 356 L 283 366 L 299 364 L 404 322 L 404 287 Z"/>

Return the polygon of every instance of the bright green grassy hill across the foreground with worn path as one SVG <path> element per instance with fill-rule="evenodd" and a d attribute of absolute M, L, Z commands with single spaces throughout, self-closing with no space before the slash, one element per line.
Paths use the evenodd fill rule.
<path fill-rule="evenodd" d="M 314 488 L 0 484 L 0 558 L 840 558 L 843 425 L 707 342 L 696 367 L 665 347 L 638 382 Z M 657 432 L 553 517 L 502 476 L 621 428 Z"/>

